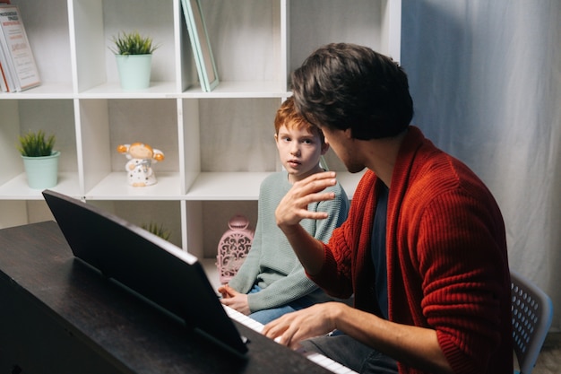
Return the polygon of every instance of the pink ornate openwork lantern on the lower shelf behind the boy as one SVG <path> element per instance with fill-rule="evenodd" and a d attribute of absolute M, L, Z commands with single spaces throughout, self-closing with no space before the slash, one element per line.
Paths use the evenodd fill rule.
<path fill-rule="evenodd" d="M 220 283 L 228 283 L 246 259 L 254 239 L 254 230 L 248 229 L 249 221 L 236 214 L 228 222 L 229 230 L 224 232 L 218 245 L 218 272 Z"/>

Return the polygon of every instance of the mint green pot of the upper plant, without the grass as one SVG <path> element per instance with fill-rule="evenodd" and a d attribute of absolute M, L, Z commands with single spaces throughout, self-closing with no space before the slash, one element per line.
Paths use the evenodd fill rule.
<path fill-rule="evenodd" d="M 121 88 L 126 91 L 150 87 L 152 55 L 116 55 Z"/>

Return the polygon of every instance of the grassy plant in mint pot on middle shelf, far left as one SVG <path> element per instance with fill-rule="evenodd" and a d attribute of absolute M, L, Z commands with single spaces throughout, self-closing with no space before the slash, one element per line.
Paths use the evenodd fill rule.
<path fill-rule="evenodd" d="M 50 188 L 58 183 L 59 151 L 55 151 L 55 135 L 29 131 L 19 137 L 18 151 L 22 154 L 23 167 L 31 188 Z"/>

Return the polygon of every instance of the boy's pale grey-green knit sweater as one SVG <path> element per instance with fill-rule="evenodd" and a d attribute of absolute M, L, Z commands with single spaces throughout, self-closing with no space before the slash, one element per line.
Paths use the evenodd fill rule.
<path fill-rule="evenodd" d="M 247 293 L 254 284 L 262 291 L 247 296 L 252 313 L 262 309 L 277 308 L 303 296 L 317 302 L 330 300 L 324 291 L 310 281 L 289 241 L 277 226 L 274 212 L 292 185 L 286 171 L 265 178 L 259 192 L 259 206 L 255 236 L 244 264 L 229 285 L 236 291 Z M 347 219 L 349 199 L 339 183 L 327 188 L 335 193 L 335 199 L 308 205 L 308 210 L 327 212 L 325 220 L 300 222 L 315 239 L 327 243 L 332 230 Z"/>

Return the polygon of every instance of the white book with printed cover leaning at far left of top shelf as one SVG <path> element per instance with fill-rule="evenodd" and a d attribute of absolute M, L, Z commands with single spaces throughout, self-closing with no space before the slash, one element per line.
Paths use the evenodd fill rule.
<path fill-rule="evenodd" d="M 0 4 L 0 55 L 8 91 L 39 86 L 39 71 L 17 5 Z"/>

